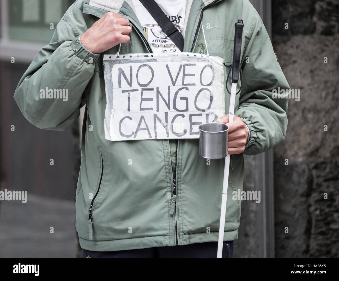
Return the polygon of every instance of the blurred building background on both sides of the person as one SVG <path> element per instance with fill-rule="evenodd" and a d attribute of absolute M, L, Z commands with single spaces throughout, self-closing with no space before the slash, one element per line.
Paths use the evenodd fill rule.
<path fill-rule="evenodd" d="M 0 190 L 29 198 L 0 201 L 0 257 L 82 255 L 74 206 L 82 116 L 66 131 L 40 130 L 13 98 L 73 2 L 0 0 Z M 339 257 L 339 0 L 250 2 L 300 100 L 288 100 L 283 143 L 244 155 L 243 190 L 260 191 L 261 202 L 241 203 L 234 257 Z"/>

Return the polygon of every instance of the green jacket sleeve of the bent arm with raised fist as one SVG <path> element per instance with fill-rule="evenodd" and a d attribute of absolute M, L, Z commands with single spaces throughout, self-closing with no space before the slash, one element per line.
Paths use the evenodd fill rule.
<path fill-rule="evenodd" d="M 82 45 L 71 24 L 67 17 L 61 19 L 51 43 L 36 55 L 14 93 L 26 119 L 41 129 L 65 130 L 77 120 L 99 57 Z M 66 98 L 57 97 L 60 90 Z"/>

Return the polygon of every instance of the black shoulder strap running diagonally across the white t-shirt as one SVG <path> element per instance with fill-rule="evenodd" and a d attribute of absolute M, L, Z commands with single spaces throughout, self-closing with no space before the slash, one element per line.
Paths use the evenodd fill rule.
<path fill-rule="evenodd" d="M 184 37 L 177 29 L 177 27 L 166 17 L 165 13 L 161 10 L 154 0 L 140 0 L 141 4 L 151 14 L 151 16 L 160 25 L 165 34 L 171 38 L 181 52 L 184 50 Z"/>

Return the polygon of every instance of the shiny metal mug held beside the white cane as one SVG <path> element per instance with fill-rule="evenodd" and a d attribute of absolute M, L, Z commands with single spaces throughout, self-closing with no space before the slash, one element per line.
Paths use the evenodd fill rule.
<path fill-rule="evenodd" d="M 199 127 L 199 154 L 207 159 L 227 156 L 229 127 L 224 123 L 205 123 Z"/>

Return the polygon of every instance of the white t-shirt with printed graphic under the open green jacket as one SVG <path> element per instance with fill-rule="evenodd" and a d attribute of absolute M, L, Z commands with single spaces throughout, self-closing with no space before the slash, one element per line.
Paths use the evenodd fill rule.
<path fill-rule="evenodd" d="M 179 27 L 181 34 L 184 34 L 184 17 L 186 0 L 155 0 L 165 15 Z M 133 0 L 136 15 L 141 23 L 145 37 L 151 45 L 154 53 L 180 52 L 171 39 L 168 39 L 146 8 L 139 0 Z"/>

